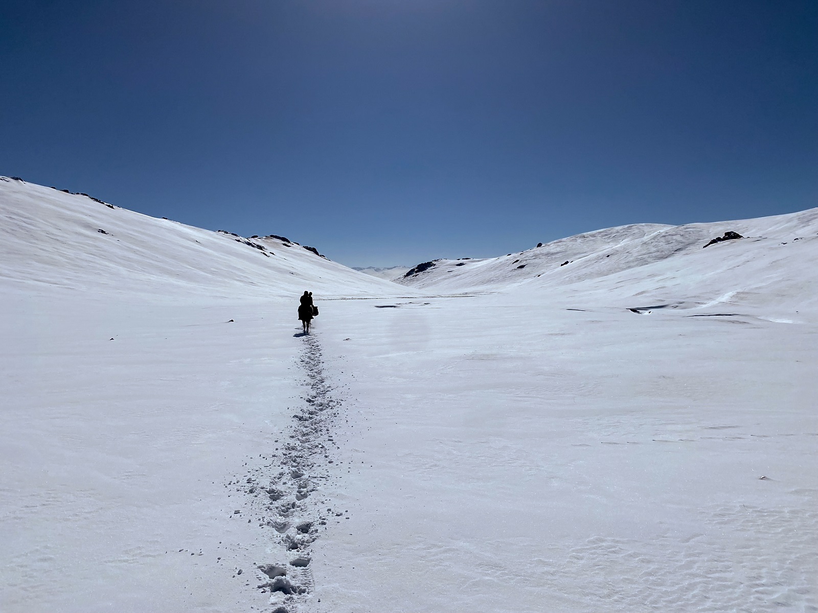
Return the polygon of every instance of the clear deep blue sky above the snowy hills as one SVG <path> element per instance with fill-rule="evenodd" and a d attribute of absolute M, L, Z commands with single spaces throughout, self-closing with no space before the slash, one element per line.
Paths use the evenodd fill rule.
<path fill-rule="evenodd" d="M 5 0 L 0 60 L 0 174 L 350 266 L 818 206 L 816 0 Z"/>

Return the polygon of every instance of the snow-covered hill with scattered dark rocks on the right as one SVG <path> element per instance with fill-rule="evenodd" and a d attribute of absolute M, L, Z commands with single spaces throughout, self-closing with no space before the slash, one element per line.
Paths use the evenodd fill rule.
<path fill-rule="evenodd" d="M 726 232 L 744 238 L 710 244 Z M 708 302 L 725 293 L 816 304 L 818 208 L 743 221 L 596 230 L 488 259 L 437 260 L 399 283 L 437 292 L 516 289 Z M 740 298 L 740 297 L 739 297 Z"/>

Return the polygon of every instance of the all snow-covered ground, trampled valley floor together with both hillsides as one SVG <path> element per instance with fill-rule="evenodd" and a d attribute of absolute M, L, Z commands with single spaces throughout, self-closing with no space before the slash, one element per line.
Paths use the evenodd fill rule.
<path fill-rule="evenodd" d="M 816 264 L 811 209 L 399 285 L 0 180 L 0 611 L 818 611 Z"/>

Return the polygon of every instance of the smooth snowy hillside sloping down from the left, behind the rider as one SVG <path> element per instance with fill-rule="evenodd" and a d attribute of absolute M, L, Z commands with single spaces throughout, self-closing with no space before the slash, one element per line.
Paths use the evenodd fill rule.
<path fill-rule="evenodd" d="M 0 177 L 0 280 L 214 296 L 407 293 L 276 235 L 245 238 Z"/>

